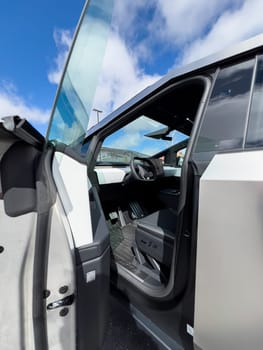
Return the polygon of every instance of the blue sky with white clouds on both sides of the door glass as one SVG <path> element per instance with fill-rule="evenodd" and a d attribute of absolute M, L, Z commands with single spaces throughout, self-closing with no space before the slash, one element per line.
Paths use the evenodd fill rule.
<path fill-rule="evenodd" d="M 94 102 L 102 117 L 170 69 L 263 32 L 262 0 L 116 2 L 118 24 Z M 44 133 L 83 5 L 2 1 L 1 116 L 20 114 Z"/>

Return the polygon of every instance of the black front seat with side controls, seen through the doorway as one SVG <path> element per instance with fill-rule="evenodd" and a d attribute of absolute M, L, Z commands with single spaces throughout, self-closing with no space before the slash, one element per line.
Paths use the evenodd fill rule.
<path fill-rule="evenodd" d="M 138 249 L 166 266 L 171 265 L 176 233 L 176 212 L 162 209 L 136 220 Z"/>

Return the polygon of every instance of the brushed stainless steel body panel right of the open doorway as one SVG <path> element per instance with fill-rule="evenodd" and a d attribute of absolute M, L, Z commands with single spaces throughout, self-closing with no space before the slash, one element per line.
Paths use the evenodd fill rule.
<path fill-rule="evenodd" d="M 194 342 L 263 346 L 263 151 L 218 154 L 200 182 Z"/>

